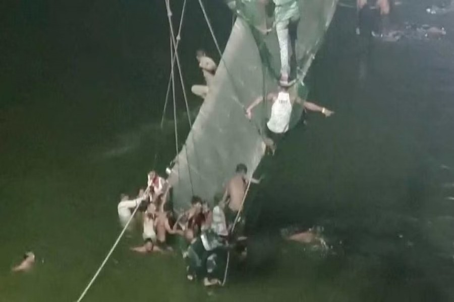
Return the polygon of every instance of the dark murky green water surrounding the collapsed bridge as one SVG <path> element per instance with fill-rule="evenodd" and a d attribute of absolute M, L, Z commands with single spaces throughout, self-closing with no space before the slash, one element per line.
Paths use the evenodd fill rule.
<path fill-rule="evenodd" d="M 2 6 L 0 301 L 76 300 L 120 232 L 118 196 L 134 194 L 153 165 L 166 16 L 141 1 Z M 188 85 L 202 80 L 194 50 L 214 50 L 192 6 L 197 21 L 187 20 L 191 41 L 182 45 Z M 443 25 L 448 35 L 377 44 L 364 68 L 353 13 L 338 10 L 311 78 L 312 98 L 336 114 L 310 116 L 291 133 L 257 201 L 258 229 L 324 225 L 327 256 L 298 246 L 275 253 L 257 240 L 251 267 L 207 291 L 185 280 L 178 256 L 132 254 L 136 232 L 85 300 L 452 300 L 454 24 L 415 13 L 423 7 L 404 6 L 401 20 Z M 230 17 L 218 14 L 225 39 Z M 172 127 L 158 132 L 159 169 L 175 154 Z M 26 250 L 37 255 L 34 270 L 10 273 Z"/>

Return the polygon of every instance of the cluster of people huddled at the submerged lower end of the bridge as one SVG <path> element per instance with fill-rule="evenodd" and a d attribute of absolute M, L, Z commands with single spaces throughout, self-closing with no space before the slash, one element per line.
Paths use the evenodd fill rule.
<path fill-rule="evenodd" d="M 247 167 L 238 164 L 235 175 L 225 186 L 222 195 L 214 197 L 213 208 L 198 196 L 192 196 L 191 207 L 175 215 L 172 206 L 167 206 L 171 185 L 154 171 L 148 174 L 148 186 L 136 199 L 128 200 L 122 195 L 118 213 L 122 223 L 138 208 L 142 217 L 143 244 L 132 247 L 138 253 L 171 253 L 168 237 L 173 236 L 186 261 L 188 280 L 203 279 L 206 286 L 223 284 L 226 259 L 239 238 L 234 235 L 240 219 L 248 182 Z M 237 228 L 238 229 L 238 228 Z M 235 239 L 234 239 L 235 238 Z"/>

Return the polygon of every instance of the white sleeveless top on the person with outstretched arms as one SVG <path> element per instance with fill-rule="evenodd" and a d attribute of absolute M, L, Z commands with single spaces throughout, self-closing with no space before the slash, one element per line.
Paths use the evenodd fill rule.
<path fill-rule="evenodd" d="M 279 92 L 277 99 L 271 106 L 271 117 L 266 124 L 268 129 L 274 133 L 284 133 L 289 130 L 292 107 L 289 93 Z"/>

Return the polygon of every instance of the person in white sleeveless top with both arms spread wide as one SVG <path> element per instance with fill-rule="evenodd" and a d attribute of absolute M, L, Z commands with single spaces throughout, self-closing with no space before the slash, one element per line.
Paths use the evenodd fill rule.
<path fill-rule="evenodd" d="M 279 84 L 279 92 L 268 93 L 266 95 L 266 100 L 271 102 L 271 116 L 269 117 L 268 122 L 266 123 L 266 135 L 264 142 L 266 146 L 271 150 L 271 153 L 274 154 L 276 150 L 276 144 L 282 138 L 282 136 L 289 130 L 290 117 L 292 114 L 293 104 L 297 103 L 305 110 L 321 112 L 324 116 L 328 117 L 334 112 L 321 107 L 315 103 L 302 100 L 298 96 L 292 93 L 292 96 L 289 92 L 289 85 L 285 83 Z M 263 96 L 258 97 L 252 102 L 251 105 L 246 109 L 246 116 L 248 119 L 252 118 L 252 110 L 263 101 Z"/>

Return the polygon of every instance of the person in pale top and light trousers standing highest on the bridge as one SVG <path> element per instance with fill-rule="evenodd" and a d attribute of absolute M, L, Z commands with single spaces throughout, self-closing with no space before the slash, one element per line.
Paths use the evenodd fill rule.
<path fill-rule="evenodd" d="M 273 0 L 273 3 L 280 52 L 280 81 L 287 82 L 290 76 L 289 40 L 293 56 L 296 57 L 296 26 L 300 20 L 300 9 L 297 0 Z"/>

